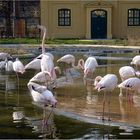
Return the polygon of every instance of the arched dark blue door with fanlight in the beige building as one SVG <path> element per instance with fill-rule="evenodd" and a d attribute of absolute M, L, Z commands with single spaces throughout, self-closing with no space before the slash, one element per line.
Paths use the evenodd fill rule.
<path fill-rule="evenodd" d="M 107 38 L 107 12 L 105 10 L 91 11 L 91 38 Z"/>

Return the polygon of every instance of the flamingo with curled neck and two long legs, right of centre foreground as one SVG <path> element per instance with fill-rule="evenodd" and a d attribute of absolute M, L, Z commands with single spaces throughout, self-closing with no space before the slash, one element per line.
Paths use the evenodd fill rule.
<path fill-rule="evenodd" d="M 111 93 L 117 87 L 117 83 L 118 83 L 118 78 L 115 74 L 107 74 L 104 77 L 97 76 L 95 78 L 95 82 L 94 82 L 95 89 L 97 89 L 98 92 L 104 91 L 102 120 L 104 120 L 105 92 Z M 108 100 L 108 108 L 109 108 L 108 120 L 110 120 L 110 99 Z"/>

